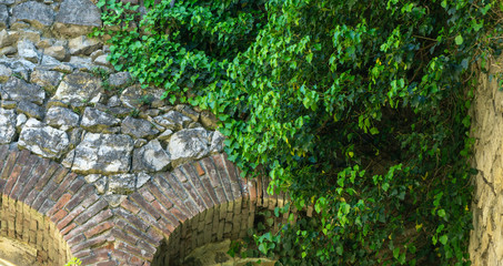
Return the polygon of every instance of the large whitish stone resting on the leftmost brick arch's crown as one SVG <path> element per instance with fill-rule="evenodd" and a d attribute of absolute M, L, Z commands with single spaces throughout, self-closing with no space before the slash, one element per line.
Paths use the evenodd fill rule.
<path fill-rule="evenodd" d="M 42 124 L 30 119 L 24 124 L 18 145 L 43 157 L 59 158 L 70 144 L 64 131 Z"/>

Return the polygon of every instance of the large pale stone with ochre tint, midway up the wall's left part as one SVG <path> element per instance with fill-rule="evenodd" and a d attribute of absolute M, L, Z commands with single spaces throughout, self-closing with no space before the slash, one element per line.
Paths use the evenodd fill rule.
<path fill-rule="evenodd" d="M 72 106 L 83 106 L 101 91 L 101 81 L 90 73 L 74 72 L 61 81 L 52 100 Z"/>

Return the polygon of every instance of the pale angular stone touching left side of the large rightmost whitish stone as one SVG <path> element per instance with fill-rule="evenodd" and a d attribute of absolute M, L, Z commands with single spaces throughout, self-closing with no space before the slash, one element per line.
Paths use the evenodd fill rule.
<path fill-rule="evenodd" d="M 134 150 L 133 153 L 133 171 L 164 171 L 170 163 L 170 156 L 162 149 L 161 143 L 159 143 L 158 140 L 147 143 L 147 145 Z"/>

